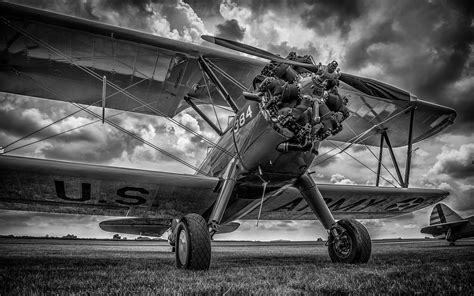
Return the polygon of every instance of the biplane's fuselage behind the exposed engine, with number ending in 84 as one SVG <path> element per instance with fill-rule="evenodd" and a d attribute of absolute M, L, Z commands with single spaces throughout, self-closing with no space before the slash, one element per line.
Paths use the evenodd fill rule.
<path fill-rule="evenodd" d="M 315 155 L 310 151 L 278 151 L 277 146 L 290 138 L 279 133 L 273 125 L 267 110 L 257 102 L 248 101 L 217 142 L 224 149 L 212 149 L 202 163 L 201 171 L 219 177 L 233 155 L 237 155 L 242 164 L 241 181 L 261 183 L 257 176 L 261 173 L 261 177 L 273 185 L 293 182 L 308 169 Z"/>

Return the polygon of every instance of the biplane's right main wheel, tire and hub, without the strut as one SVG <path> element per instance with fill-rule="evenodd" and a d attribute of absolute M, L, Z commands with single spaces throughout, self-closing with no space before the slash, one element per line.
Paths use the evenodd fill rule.
<path fill-rule="evenodd" d="M 343 231 L 337 238 L 334 238 L 332 234 L 329 237 L 328 249 L 332 262 L 366 263 L 369 261 L 372 242 L 364 225 L 354 219 L 342 219 L 337 224 Z"/>

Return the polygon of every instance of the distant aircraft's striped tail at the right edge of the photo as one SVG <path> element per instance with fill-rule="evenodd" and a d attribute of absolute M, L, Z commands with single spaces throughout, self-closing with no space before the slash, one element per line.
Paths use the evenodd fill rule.
<path fill-rule="evenodd" d="M 430 216 L 430 226 L 423 227 L 421 233 L 446 239 L 450 246 L 461 238 L 474 236 L 474 216 L 463 219 L 444 203 L 438 203 Z"/>

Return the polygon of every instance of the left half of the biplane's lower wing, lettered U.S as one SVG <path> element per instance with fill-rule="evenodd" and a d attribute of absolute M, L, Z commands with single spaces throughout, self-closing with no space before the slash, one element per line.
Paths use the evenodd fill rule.
<path fill-rule="evenodd" d="M 217 178 L 0 156 L 0 208 L 175 218 L 203 214 Z"/>

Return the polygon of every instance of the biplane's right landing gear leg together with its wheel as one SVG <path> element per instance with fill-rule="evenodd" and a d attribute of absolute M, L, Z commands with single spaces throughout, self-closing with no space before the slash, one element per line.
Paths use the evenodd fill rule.
<path fill-rule="evenodd" d="M 295 183 L 306 203 L 329 233 L 329 257 L 333 262 L 365 263 L 370 258 L 372 242 L 367 229 L 353 219 L 334 220 L 318 186 L 307 173 Z"/>

